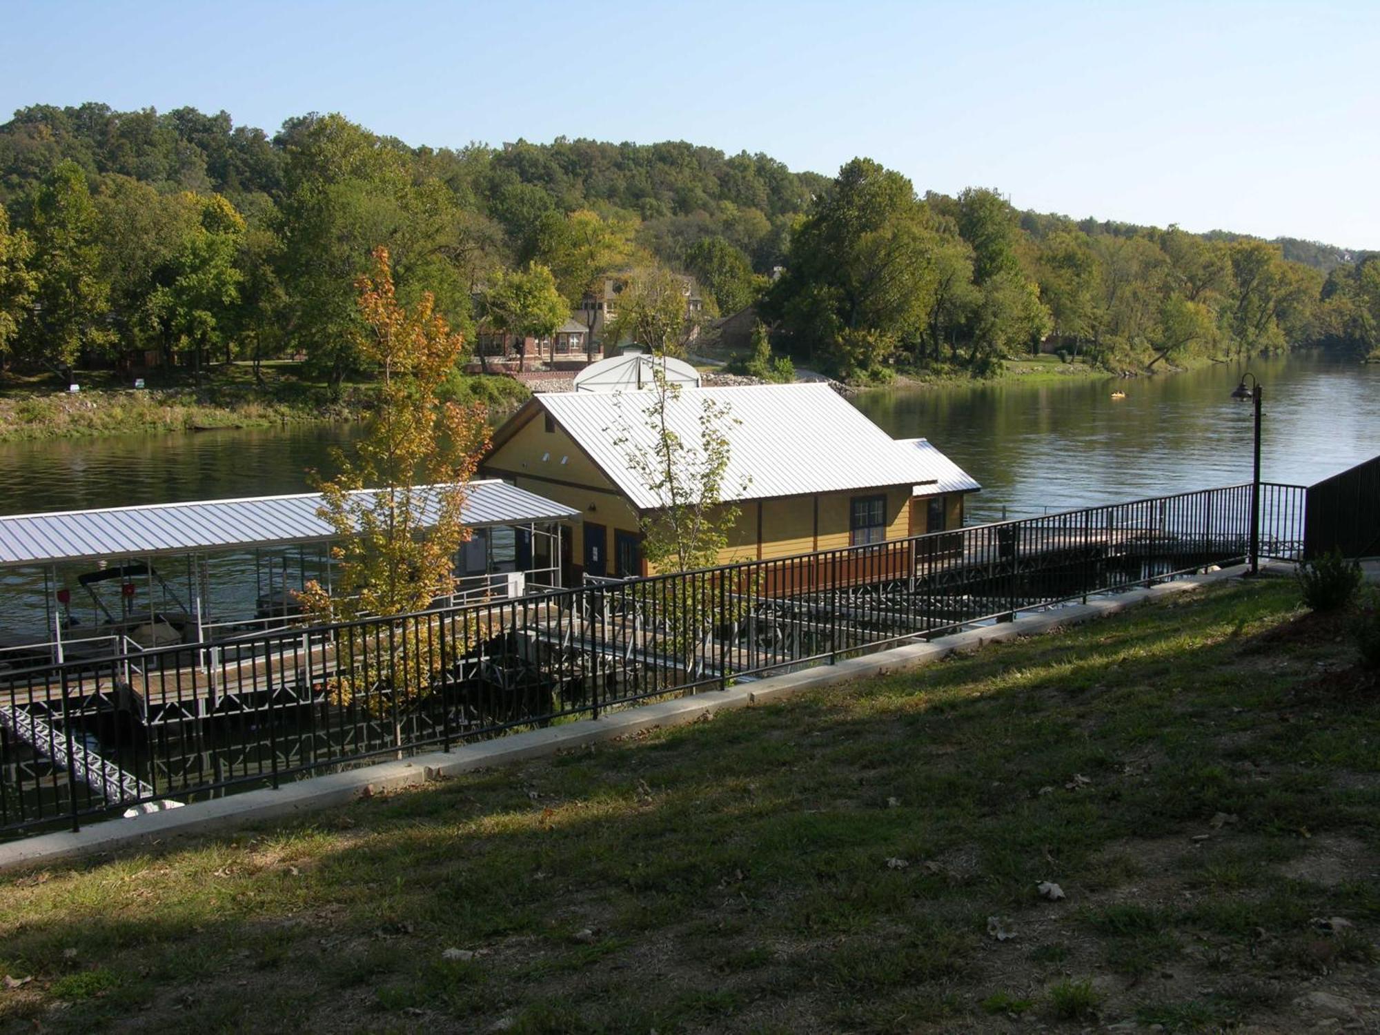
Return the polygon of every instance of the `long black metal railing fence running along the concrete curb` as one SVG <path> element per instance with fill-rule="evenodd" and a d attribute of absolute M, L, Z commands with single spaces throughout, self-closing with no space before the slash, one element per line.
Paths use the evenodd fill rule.
<path fill-rule="evenodd" d="M 726 687 L 1241 560 L 1230 486 L 518 600 L 0 673 L 0 831 Z M 1263 486 L 1297 558 L 1304 490 Z"/>

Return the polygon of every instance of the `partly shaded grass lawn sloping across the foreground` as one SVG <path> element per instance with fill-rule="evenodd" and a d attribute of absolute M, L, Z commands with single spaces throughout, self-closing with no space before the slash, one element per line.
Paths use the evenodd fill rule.
<path fill-rule="evenodd" d="M 6 875 L 0 1028 L 1374 1024 L 1380 691 L 1352 665 L 1293 584 L 1219 586 L 298 825 Z"/>

